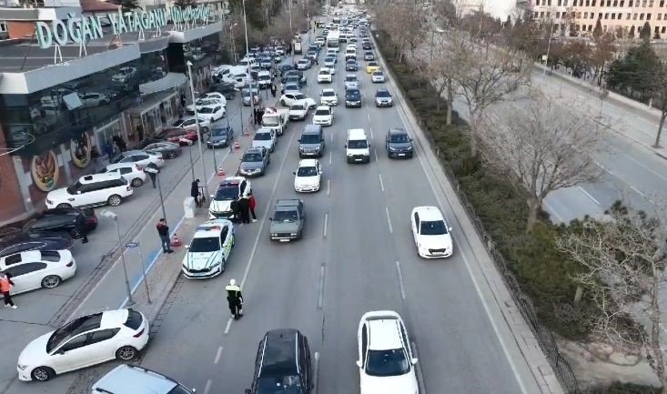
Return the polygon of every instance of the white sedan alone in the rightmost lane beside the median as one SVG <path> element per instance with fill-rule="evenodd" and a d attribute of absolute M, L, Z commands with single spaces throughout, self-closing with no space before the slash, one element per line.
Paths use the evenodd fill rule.
<path fill-rule="evenodd" d="M 410 215 L 412 237 L 422 258 L 449 258 L 454 252 L 451 227 L 438 207 L 415 207 Z"/>

